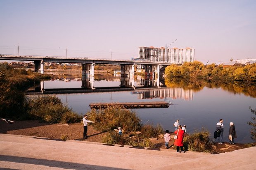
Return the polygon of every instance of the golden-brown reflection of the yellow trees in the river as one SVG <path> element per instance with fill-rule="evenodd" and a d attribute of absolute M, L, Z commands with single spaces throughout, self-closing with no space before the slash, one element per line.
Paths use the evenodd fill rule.
<path fill-rule="evenodd" d="M 256 83 L 242 81 L 221 81 L 221 80 L 188 80 L 183 78 L 166 78 L 167 87 L 182 87 L 183 89 L 193 89 L 195 92 L 204 87 L 222 88 L 234 94 L 244 94 L 256 98 Z"/>

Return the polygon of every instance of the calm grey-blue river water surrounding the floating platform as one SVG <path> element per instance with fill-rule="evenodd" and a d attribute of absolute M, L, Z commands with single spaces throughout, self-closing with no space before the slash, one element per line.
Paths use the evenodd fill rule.
<path fill-rule="evenodd" d="M 80 76 L 80 75 L 79 75 Z M 78 78 L 79 78 L 78 76 Z M 72 76 L 71 76 L 72 77 Z M 75 78 L 75 77 L 73 77 Z M 143 86 L 144 77 L 134 78 L 134 85 Z M 50 80 L 45 81 L 44 88 L 72 88 L 81 87 L 82 82 L 71 80 L 69 82 Z M 97 78 L 95 76 L 94 87 L 119 87 L 119 77 Z M 136 92 L 102 92 L 83 94 L 58 94 L 63 103 L 67 103 L 73 111 L 83 115 L 90 110 L 89 104 L 95 102 L 145 102 L 164 101 L 166 97 L 173 105 L 169 108 L 143 108 L 134 109 L 142 119 L 143 124 L 161 124 L 164 130 L 174 131 L 173 123 L 179 119 L 181 125 L 187 126 L 187 132 L 193 133 L 195 129 L 206 127 L 210 133 L 216 129 L 216 123 L 223 119 L 223 141 L 228 142 L 229 123 L 235 124 L 237 139 L 235 142 L 251 142 L 251 121 L 254 115 L 249 107 L 256 108 L 256 98 L 245 96 L 242 93 L 233 93 L 223 88 L 203 87 L 201 90 L 181 87 L 164 87 L 159 89 L 140 90 Z M 214 139 L 211 136 L 212 139 Z"/>

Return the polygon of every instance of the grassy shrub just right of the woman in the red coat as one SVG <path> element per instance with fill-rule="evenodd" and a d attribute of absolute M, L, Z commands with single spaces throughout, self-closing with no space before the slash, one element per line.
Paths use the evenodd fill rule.
<path fill-rule="evenodd" d="M 183 139 L 183 146 L 188 151 L 196 152 L 213 152 L 216 148 L 211 140 L 209 140 L 209 131 L 202 128 L 201 131 L 197 129 L 191 135 L 187 135 Z"/>

